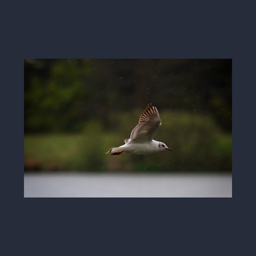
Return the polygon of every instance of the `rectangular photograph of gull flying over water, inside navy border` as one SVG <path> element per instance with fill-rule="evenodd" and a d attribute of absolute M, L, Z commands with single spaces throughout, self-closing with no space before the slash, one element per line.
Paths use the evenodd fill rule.
<path fill-rule="evenodd" d="M 232 59 L 24 59 L 24 197 L 232 197 Z"/>

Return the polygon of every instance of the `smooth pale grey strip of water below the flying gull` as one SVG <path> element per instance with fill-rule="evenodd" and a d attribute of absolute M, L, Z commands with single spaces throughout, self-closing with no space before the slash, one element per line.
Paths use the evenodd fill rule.
<path fill-rule="evenodd" d="M 232 197 L 232 174 L 25 173 L 24 197 Z"/>

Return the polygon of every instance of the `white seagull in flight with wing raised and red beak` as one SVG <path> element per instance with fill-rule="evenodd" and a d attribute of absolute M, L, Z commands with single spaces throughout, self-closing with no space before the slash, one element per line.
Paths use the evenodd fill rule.
<path fill-rule="evenodd" d="M 125 144 L 118 148 L 111 148 L 105 154 L 135 154 L 144 155 L 172 150 L 165 143 L 153 140 L 154 133 L 161 126 L 159 113 L 152 103 L 148 104 L 145 111 L 139 118 L 139 124 L 135 126 L 130 135 L 130 139 L 124 139 Z"/>

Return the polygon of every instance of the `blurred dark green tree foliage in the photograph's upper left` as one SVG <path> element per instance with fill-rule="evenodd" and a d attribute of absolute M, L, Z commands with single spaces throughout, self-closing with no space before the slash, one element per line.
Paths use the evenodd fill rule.
<path fill-rule="evenodd" d="M 32 75 L 24 91 L 25 131 L 81 130 L 82 101 L 87 98 L 82 74 L 74 61 L 67 60 L 52 64 L 46 82 Z"/>

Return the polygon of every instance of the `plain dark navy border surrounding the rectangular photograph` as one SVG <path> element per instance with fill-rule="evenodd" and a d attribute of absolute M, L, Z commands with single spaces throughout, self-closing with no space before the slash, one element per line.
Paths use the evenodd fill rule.
<path fill-rule="evenodd" d="M 223 1 L 3 3 L 3 250 L 248 254 L 255 216 L 253 11 L 247 2 Z M 232 58 L 233 198 L 24 198 L 24 58 Z"/>

